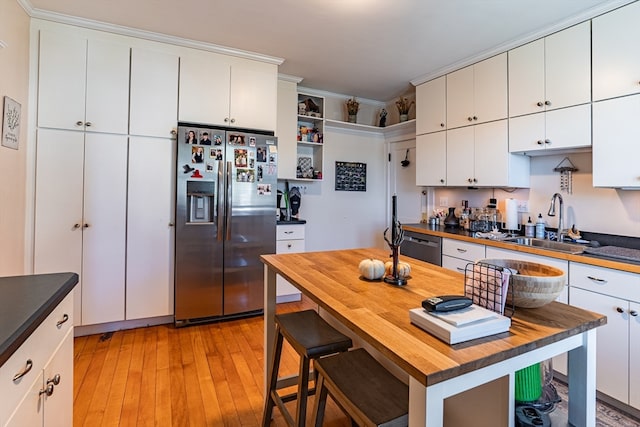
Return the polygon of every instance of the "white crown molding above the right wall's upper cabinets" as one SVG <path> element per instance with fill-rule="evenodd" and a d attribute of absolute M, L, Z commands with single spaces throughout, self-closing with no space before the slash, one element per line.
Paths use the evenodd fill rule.
<path fill-rule="evenodd" d="M 443 76 L 445 74 L 451 73 L 453 71 L 459 70 L 461 68 L 467 67 L 469 65 L 475 64 L 477 62 L 483 61 L 487 58 L 491 58 L 492 56 L 496 56 L 499 55 L 501 53 L 504 52 L 508 52 L 511 49 L 515 49 L 516 47 L 522 46 L 524 44 L 530 43 L 534 40 L 538 40 L 541 39 L 543 37 L 546 37 L 550 34 L 556 33 L 558 31 L 564 30 L 566 28 L 569 28 L 573 25 L 577 25 L 580 24 L 582 22 L 588 21 L 590 19 L 595 18 L 596 16 L 602 15 L 606 12 L 610 12 L 614 9 L 617 9 L 619 7 L 625 6 L 627 4 L 633 3 L 637 0 L 612 0 L 612 1 L 608 1 L 605 2 L 605 4 L 601 4 L 598 6 L 595 6 L 589 10 L 586 10 L 583 13 L 580 13 L 578 15 L 574 15 L 568 19 L 565 19 L 563 21 L 557 22 L 554 25 L 551 25 L 549 27 L 546 27 L 540 31 L 535 31 L 533 33 L 529 33 L 528 35 L 521 37 L 517 40 L 511 40 L 507 43 L 503 43 L 501 45 L 498 45 L 492 49 L 486 50 L 484 52 L 481 52 L 477 55 L 474 55 L 472 57 L 468 57 L 465 59 L 462 59 L 458 62 L 455 62 L 453 64 L 447 65 L 445 67 L 442 67 L 440 69 L 437 69 L 435 71 L 432 71 L 430 73 L 427 74 L 423 74 L 421 76 L 416 77 L 415 79 L 411 80 L 410 83 L 414 86 L 418 86 L 419 84 L 428 82 L 429 80 L 433 80 L 437 77 Z"/>

